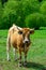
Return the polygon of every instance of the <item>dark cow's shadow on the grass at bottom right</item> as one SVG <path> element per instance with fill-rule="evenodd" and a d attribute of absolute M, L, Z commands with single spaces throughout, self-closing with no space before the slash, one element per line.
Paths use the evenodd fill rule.
<path fill-rule="evenodd" d="M 36 62 L 27 62 L 27 66 L 25 66 L 25 67 L 40 69 L 40 70 L 46 70 L 46 67 L 44 67 L 44 65 L 36 64 Z"/>

